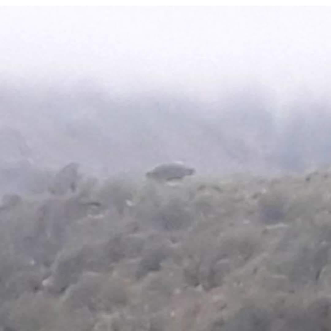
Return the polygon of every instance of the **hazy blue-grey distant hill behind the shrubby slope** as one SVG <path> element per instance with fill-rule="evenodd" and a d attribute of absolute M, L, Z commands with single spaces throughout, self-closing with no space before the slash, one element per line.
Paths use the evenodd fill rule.
<path fill-rule="evenodd" d="M 7 88 L 0 99 L 3 125 L 16 132 L 0 143 L 3 159 L 21 153 L 45 167 L 75 161 L 109 175 L 182 160 L 204 174 L 272 174 L 331 162 L 328 100 L 296 101 L 279 119 L 273 101 L 254 88 L 213 102 L 166 93 L 116 96 L 97 87 Z"/>

